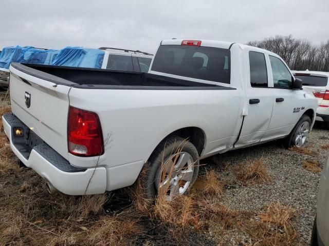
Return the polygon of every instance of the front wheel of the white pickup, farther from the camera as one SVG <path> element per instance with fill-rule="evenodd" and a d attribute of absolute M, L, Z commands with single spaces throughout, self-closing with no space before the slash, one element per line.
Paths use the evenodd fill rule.
<path fill-rule="evenodd" d="M 305 125 L 304 125 L 305 124 Z M 307 126 L 308 125 L 308 130 L 303 131 L 303 135 L 302 135 L 302 140 L 298 141 L 296 138 L 298 135 L 301 134 L 301 127 L 302 126 Z M 308 133 L 309 133 L 309 128 L 310 128 L 310 118 L 307 115 L 303 115 L 297 122 L 296 126 L 294 127 L 293 131 L 290 132 L 290 134 L 284 139 L 284 146 L 286 148 L 291 148 L 291 147 L 298 147 L 301 148 L 304 143 L 305 140 L 307 139 Z"/>

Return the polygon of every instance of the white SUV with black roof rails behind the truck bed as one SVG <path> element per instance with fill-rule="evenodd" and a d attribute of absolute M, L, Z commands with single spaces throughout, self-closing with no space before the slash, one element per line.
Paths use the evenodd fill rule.
<path fill-rule="evenodd" d="M 103 69 L 149 72 L 152 54 L 139 50 L 100 47 L 105 51 Z"/>

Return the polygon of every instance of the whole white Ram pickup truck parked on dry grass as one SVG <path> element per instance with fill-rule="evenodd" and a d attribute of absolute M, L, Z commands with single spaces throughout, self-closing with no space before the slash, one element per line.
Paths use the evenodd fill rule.
<path fill-rule="evenodd" d="M 278 55 L 210 40 L 163 40 L 149 73 L 17 63 L 10 73 L 11 149 L 69 195 L 131 186 L 148 163 L 145 194 L 169 184 L 171 199 L 193 185 L 199 159 L 280 138 L 301 147 L 317 108 Z"/>

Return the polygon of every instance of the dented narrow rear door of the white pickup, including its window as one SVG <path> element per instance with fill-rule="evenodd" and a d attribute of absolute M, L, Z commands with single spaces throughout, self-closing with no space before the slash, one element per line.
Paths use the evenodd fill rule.
<path fill-rule="evenodd" d="M 268 61 L 262 52 L 244 50 L 246 67 L 245 115 L 239 141 L 235 147 L 259 142 L 268 129 L 273 108 L 273 91 L 269 88 Z"/>

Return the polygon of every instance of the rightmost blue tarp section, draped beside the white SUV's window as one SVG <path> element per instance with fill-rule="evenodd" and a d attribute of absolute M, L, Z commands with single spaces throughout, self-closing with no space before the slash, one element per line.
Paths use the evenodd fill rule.
<path fill-rule="evenodd" d="M 51 65 L 80 68 L 101 68 L 105 52 L 98 49 L 66 47 L 60 51 Z"/>

